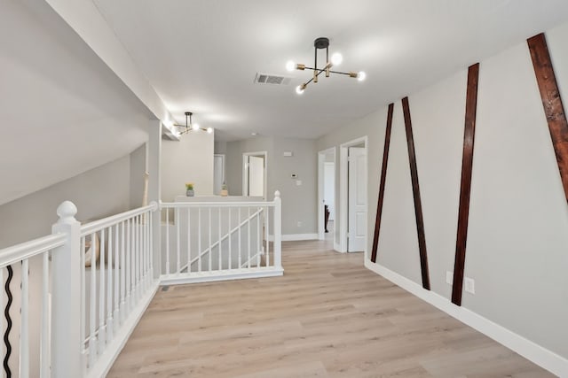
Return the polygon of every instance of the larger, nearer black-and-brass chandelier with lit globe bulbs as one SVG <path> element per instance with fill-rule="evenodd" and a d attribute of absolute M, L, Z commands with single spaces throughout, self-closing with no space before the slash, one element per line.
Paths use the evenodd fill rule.
<path fill-rule="evenodd" d="M 296 87 L 296 93 L 298 95 L 301 95 L 304 93 L 305 88 L 308 86 L 308 84 L 310 84 L 312 81 L 314 83 L 318 82 L 318 76 L 321 73 L 326 73 L 326 77 L 329 77 L 330 73 L 340 73 L 343 75 L 347 75 L 349 77 L 355 78 L 358 81 L 364 81 L 365 78 L 367 77 L 367 74 L 359 71 L 358 73 L 355 72 L 349 72 L 349 73 L 342 73 L 339 71 L 333 71 L 331 69 L 331 67 L 333 66 L 339 66 L 341 64 L 341 62 L 343 61 L 343 57 L 340 53 L 335 52 L 335 54 L 333 54 L 331 56 L 331 60 L 329 59 L 329 39 L 326 37 L 319 37 L 317 38 L 314 42 L 313 42 L 313 46 L 314 46 L 314 62 L 313 62 L 313 67 L 307 67 L 303 64 L 296 64 L 293 61 L 288 61 L 288 63 L 286 64 L 286 69 L 288 71 L 294 71 L 294 70 L 300 70 L 300 71 L 304 71 L 304 70 L 312 70 L 313 71 L 313 76 L 312 79 L 310 79 L 309 81 L 306 81 L 300 85 L 298 85 Z M 322 50 L 322 49 L 326 49 L 326 66 L 323 66 L 323 68 L 318 68 L 318 50 Z"/>

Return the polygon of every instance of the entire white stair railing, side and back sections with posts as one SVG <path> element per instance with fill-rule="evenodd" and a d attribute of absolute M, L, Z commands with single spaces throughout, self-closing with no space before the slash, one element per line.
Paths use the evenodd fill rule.
<path fill-rule="evenodd" d="M 278 191 L 272 202 L 162 204 L 176 214 L 163 237 L 153 221 L 158 207 L 81 226 L 75 204 L 66 201 L 52 235 L 0 250 L 7 288 L 0 309 L 9 316 L 0 321 L 0 336 L 13 327 L 12 344 L 0 343 L 0 358 L 7 359 L 0 376 L 105 376 L 160 283 L 283 274 Z M 163 251 L 153 251 L 161 238 Z M 165 251 L 175 253 L 161 265 L 170 269 L 171 261 L 175 269 L 160 277 L 154 262 Z"/>

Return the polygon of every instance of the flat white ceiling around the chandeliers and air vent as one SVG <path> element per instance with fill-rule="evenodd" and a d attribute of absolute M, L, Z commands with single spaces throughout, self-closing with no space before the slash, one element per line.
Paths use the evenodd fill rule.
<path fill-rule="evenodd" d="M 93 0 L 170 112 L 194 112 L 217 138 L 316 138 L 568 19 L 565 0 Z M 288 73 L 312 66 L 327 36 L 342 71 L 367 81 Z M 253 83 L 256 73 L 293 77 Z"/>

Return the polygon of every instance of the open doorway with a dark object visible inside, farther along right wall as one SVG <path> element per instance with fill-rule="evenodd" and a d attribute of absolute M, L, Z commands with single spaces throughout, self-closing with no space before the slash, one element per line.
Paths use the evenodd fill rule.
<path fill-rule="evenodd" d="M 337 232 L 335 232 L 335 147 L 318 152 L 318 239 L 331 239 L 335 251 L 338 251 Z M 326 228 L 326 205 L 329 211 Z M 326 233 L 326 229 L 327 232 Z"/>

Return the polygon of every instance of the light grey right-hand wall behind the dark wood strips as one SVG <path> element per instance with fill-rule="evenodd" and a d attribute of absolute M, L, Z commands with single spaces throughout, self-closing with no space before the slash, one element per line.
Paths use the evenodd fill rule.
<path fill-rule="evenodd" d="M 568 98 L 568 25 L 547 33 Z M 480 62 L 462 305 L 568 359 L 568 207 L 525 42 Z M 467 70 L 409 96 L 432 291 L 448 298 L 454 269 Z M 390 156 L 378 264 L 421 282 L 412 184 L 400 99 Z M 317 141 L 324 150 L 368 135 L 368 235 L 375 228 L 386 107 Z M 373 238 L 368 238 L 368 251 Z"/>

